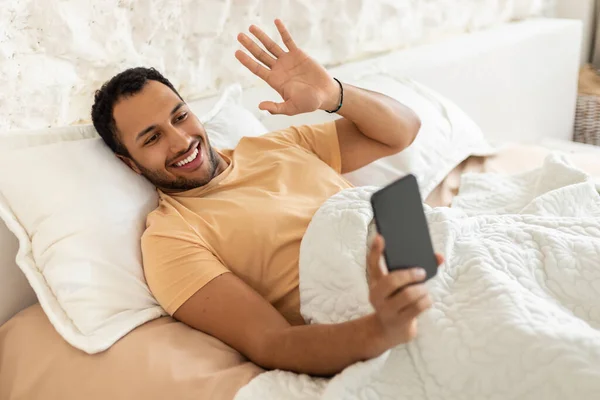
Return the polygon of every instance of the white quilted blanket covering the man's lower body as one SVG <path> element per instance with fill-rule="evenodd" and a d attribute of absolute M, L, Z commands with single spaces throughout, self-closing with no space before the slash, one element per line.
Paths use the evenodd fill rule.
<path fill-rule="evenodd" d="M 302 313 L 371 311 L 364 261 L 374 188 L 315 214 L 300 255 Z M 525 174 L 467 175 L 452 208 L 426 207 L 446 263 L 416 340 L 331 380 L 272 371 L 246 399 L 592 399 L 600 396 L 600 196 L 561 156 Z"/>

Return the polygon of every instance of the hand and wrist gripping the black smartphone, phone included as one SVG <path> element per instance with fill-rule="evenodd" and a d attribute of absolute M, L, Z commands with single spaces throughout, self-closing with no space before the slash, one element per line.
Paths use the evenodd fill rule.
<path fill-rule="evenodd" d="M 431 307 L 424 281 L 435 276 L 444 258 L 435 254 L 413 175 L 371 197 L 378 234 L 369 251 L 369 300 L 384 347 L 407 343 L 417 335 L 417 317 Z M 386 267 L 381 267 L 381 257 Z"/>

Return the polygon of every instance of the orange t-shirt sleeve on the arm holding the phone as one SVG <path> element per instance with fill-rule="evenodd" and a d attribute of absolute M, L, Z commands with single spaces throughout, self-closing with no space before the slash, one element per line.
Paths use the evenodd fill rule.
<path fill-rule="evenodd" d="M 149 217 L 142 236 L 144 275 L 158 303 L 173 315 L 204 285 L 229 270 L 185 222 Z"/>

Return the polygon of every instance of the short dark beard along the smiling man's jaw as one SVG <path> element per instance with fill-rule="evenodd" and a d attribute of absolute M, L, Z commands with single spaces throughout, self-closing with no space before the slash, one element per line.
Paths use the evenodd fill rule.
<path fill-rule="evenodd" d="M 196 189 L 206 185 L 217 174 L 217 169 L 219 167 L 219 155 L 217 154 L 215 149 L 208 143 L 207 148 L 208 174 L 204 177 L 199 177 L 195 179 L 188 179 L 181 176 L 178 176 L 177 178 L 173 179 L 163 172 L 153 171 L 145 168 L 143 165 L 140 165 L 136 160 L 132 159 L 132 161 L 139 168 L 142 175 L 158 189 L 161 189 L 165 192 L 183 192 L 186 190 Z"/>

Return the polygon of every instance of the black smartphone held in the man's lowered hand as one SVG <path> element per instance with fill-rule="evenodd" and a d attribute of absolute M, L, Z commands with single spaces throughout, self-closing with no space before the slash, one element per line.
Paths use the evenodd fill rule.
<path fill-rule="evenodd" d="M 435 276 L 437 259 L 417 178 L 406 175 L 373 193 L 371 206 L 377 231 L 385 240 L 388 270 L 421 267 L 427 272 L 425 280 Z"/>

